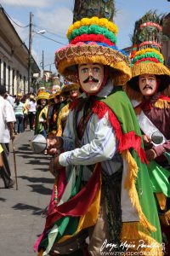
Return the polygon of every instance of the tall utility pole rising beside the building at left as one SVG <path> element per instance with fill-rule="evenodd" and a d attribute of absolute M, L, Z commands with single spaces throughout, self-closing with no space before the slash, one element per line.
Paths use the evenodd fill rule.
<path fill-rule="evenodd" d="M 32 46 L 32 13 L 30 12 L 29 52 L 28 52 L 28 93 L 31 91 L 31 46 Z"/>

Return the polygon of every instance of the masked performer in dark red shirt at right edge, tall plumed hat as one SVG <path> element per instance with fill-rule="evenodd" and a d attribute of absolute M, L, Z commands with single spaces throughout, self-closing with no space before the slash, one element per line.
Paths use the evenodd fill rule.
<path fill-rule="evenodd" d="M 170 71 L 161 55 L 163 17 L 146 13 L 135 24 L 132 54 L 133 78 L 127 82 L 127 95 L 139 119 L 150 180 L 161 218 L 161 230 L 170 251 L 170 98 L 165 95 Z M 168 91 L 168 90 L 167 90 Z M 162 168 L 163 167 L 163 168 Z"/>

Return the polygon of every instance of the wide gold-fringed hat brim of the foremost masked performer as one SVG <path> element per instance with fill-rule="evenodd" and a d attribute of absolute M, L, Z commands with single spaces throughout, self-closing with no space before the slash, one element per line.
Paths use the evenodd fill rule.
<path fill-rule="evenodd" d="M 98 44 L 71 44 L 55 53 L 55 65 L 65 79 L 77 82 L 77 65 L 99 63 L 111 67 L 111 76 L 119 84 L 131 79 L 130 62 L 119 50 Z"/>

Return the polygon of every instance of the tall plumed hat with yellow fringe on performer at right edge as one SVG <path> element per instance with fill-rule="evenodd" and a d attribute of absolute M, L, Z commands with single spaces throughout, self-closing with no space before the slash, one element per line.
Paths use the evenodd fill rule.
<path fill-rule="evenodd" d="M 162 22 L 164 16 L 147 12 L 136 21 L 133 32 L 132 79 L 127 82 L 128 96 L 139 97 L 139 75 L 155 74 L 161 83 L 158 91 L 170 84 L 170 70 L 164 65 L 161 54 Z"/>

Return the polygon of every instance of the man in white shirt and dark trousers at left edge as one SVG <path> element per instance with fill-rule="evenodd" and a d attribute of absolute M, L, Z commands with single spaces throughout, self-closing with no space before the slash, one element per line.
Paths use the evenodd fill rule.
<path fill-rule="evenodd" d="M 1 177 L 6 189 L 14 186 L 14 181 L 11 179 L 11 171 L 8 165 L 8 153 L 10 139 L 14 139 L 14 110 L 11 104 L 5 100 L 6 89 L 4 85 L 0 86 L 0 143 L 3 147 L 2 158 L 3 167 L 1 168 Z"/>

